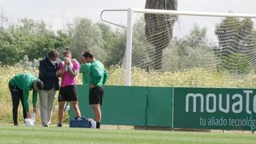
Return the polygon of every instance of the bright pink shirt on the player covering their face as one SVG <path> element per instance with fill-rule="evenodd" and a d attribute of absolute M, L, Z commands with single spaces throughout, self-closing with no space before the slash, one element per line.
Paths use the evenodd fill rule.
<path fill-rule="evenodd" d="M 80 70 L 80 64 L 79 64 L 79 62 L 77 60 L 72 59 L 71 62 L 73 63 L 73 70 L 75 70 L 75 71 Z M 60 69 L 64 68 L 63 63 L 64 62 L 60 63 Z M 78 82 L 77 76 L 76 77 L 72 77 L 71 74 L 68 71 L 66 71 L 63 74 L 63 76 L 62 76 L 62 84 L 61 84 L 61 86 L 64 87 L 64 86 L 76 85 L 77 82 Z"/>

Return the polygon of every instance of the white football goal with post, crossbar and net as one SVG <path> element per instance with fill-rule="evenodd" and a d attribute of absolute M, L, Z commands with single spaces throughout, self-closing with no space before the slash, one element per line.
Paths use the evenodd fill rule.
<path fill-rule="evenodd" d="M 131 86 L 133 67 L 154 74 L 198 68 L 254 72 L 255 24 L 256 14 L 129 8 L 125 85 Z"/>

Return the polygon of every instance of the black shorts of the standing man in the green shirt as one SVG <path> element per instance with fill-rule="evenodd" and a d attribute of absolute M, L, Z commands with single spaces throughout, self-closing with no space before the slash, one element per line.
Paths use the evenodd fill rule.
<path fill-rule="evenodd" d="M 90 89 L 89 104 L 90 105 L 95 105 L 95 104 L 102 105 L 103 92 L 104 92 L 104 89 L 102 86 L 96 86 L 96 87 Z"/>

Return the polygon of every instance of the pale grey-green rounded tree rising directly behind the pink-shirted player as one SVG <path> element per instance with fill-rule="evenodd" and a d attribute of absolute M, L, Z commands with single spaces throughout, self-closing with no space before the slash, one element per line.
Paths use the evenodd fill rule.
<path fill-rule="evenodd" d="M 74 58 L 80 58 L 82 52 L 93 50 L 96 58 L 106 61 L 106 51 L 103 49 L 102 30 L 87 18 L 75 18 L 68 31 L 71 38 L 70 50 Z"/>

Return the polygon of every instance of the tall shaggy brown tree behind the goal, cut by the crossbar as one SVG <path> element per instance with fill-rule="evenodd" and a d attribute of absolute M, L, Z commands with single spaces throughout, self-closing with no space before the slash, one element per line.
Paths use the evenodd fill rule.
<path fill-rule="evenodd" d="M 177 10 L 178 0 L 146 0 L 146 9 Z M 154 45 L 154 69 L 162 69 L 162 50 L 173 36 L 176 17 L 167 14 L 145 14 L 146 38 Z"/>

